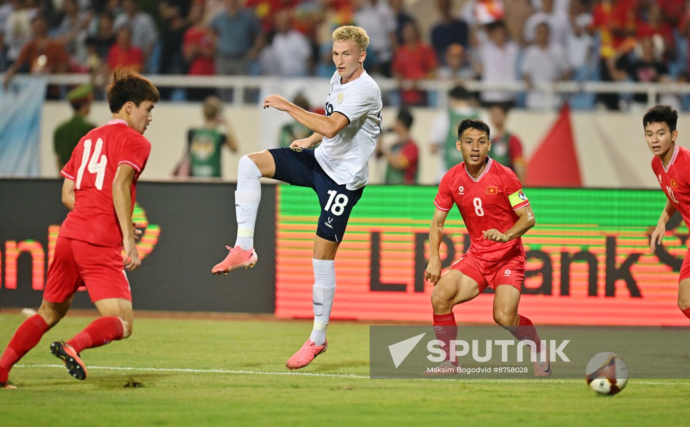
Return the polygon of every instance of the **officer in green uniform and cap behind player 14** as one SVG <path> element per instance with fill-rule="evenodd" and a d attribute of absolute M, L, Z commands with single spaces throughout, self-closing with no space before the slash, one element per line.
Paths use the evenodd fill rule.
<path fill-rule="evenodd" d="M 90 84 L 83 84 L 70 90 L 67 99 L 75 110 L 75 115 L 65 121 L 55 129 L 53 135 L 53 148 L 57 156 L 57 170 L 62 170 L 63 166 L 72 157 L 72 150 L 75 149 L 79 140 L 90 130 L 96 127 L 95 124 L 86 121 L 86 116 L 91 110 L 93 101 L 92 88 Z"/>

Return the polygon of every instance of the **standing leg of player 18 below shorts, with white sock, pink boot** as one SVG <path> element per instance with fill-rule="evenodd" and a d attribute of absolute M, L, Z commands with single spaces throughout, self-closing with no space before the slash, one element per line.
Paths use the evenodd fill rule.
<path fill-rule="evenodd" d="M 335 253 L 339 243 L 317 236 L 314 240 L 314 286 L 312 288 L 312 304 L 314 310 L 314 327 L 309 339 L 302 344 L 285 366 L 290 369 L 304 368 L 315 357 L 326 351 L 326 328 L 331 317 L 333 298 L 335 297 Z"/>

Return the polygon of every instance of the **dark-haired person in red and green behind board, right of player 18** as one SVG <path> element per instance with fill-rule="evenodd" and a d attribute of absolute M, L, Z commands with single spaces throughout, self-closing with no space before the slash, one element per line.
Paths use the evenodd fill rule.
<path fill-rule="evenodd" d="M 410 136 L 414 119 L 407 108 L 401 108 L 393 124 L 397 142 L 388 150 L 382 150 L 388 165 L 386 166 L 387 184 L 417 183 L 417 171 L 420 152 L 417 143 Z"/>

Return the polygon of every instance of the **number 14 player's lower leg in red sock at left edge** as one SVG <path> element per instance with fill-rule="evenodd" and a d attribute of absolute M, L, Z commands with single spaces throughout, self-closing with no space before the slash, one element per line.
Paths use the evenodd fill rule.
<path fill-rule="evenodd" d="M 10 369 L 29 350 L 39 344 L 43 334 L 65 317 L 70 304 L 72 304 L 71 297 L 57 304 L 44 299 L 38 312 L 17 328 L 17 332 L 14 332 L 10 339 L 10 344 L 0 357 L 0 388 L 14 388 L 8 384 Z"/>

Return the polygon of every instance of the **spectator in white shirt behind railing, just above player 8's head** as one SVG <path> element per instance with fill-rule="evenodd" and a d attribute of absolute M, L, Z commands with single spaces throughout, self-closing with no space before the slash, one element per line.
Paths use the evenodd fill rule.
<path fill-rule="evenodd" d="M 517 82 L 517 54 L 520 49 L 509 39 L 508 29 L 502 21 L 486 26 L 489 39 L 480 42 L 477 74 L 484 83 Z M 515 101 L 511 90 L 484 90 L 480 99 L 484 105 Z"/>

